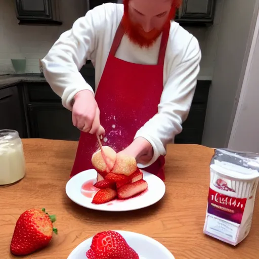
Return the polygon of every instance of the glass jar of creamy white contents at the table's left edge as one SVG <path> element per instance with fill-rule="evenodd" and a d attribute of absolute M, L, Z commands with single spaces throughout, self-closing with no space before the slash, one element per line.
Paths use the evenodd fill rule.
<path fill-rule="evenodd" d="M 0 185 L 14 184 L 25 176 L 25 157 L 19 133 L 0 130 Z"/>

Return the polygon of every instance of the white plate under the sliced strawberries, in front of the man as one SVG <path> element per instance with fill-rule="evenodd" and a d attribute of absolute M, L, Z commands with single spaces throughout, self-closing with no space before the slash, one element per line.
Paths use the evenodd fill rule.
<path fill-rule="evenodd" d="M 82 171 L 72 177 L 66 184 L 67 196 L 80 206 L 103 211 L 128 211 L 150 206 L 158 202 L 165 193 L 164 182 L 155 175 L 142 170 L 143 179 L 148 183 L 148 190 L 131 199 L 113 200 L 104 204 L 93 204 L 92 200 L 96 190 L 92 192 L 82 192 L 82 185 L 88 181 L 96 181 L 97 171 L 90 169 Z M 87 196 L 85 196 L 87 195 Z"/>

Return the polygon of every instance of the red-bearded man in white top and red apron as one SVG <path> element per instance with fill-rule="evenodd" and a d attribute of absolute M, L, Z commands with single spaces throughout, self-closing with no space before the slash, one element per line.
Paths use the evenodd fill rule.
<path fill-rule="evenodd" d="M 182 131 L 201 52 L 174 21 L 180 0 L 124 0 L 90 10 L 42 60 L 53 91 L 81 130 L 71 176 L 92 168 L 96 134 L 164 180 L 166 144 Z M 79 70 L 91 60 L 96 92 Z"/>

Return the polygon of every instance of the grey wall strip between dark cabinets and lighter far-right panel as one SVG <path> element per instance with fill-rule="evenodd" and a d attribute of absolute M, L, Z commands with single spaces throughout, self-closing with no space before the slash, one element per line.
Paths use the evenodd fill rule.
<path fill-rule="evenodd" d="M 258 2 L 224 0 L 203 145 L 228 145 L 257 18 Z"/>

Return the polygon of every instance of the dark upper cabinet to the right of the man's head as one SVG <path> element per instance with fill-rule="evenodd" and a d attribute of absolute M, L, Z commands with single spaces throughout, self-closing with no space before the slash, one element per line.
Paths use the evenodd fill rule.
<path fill-rule="evenodd" d="M 176 22 L 184 26 L 213 24 L 216 0 L 183 0 Z"/>

